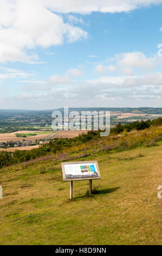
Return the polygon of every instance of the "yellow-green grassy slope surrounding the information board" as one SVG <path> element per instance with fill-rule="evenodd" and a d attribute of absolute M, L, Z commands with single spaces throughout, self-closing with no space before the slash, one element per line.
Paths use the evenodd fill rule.
<path fill-rule="evenodd" d="M 94 138 L 0 170 L 1 245 L 160 245 L 161 127 Z M 61 162 L 98 160 L 101 180 L 62 181 Z"/>

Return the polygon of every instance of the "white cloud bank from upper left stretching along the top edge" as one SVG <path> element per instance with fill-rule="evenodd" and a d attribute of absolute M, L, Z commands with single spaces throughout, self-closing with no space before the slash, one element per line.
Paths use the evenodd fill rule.
<path fill-rule="evenodd" d="M 79 24 L 83 23 L 82 19 L 71 13 L 120 13 L 161 2 L 162 0 L 0 0 L 0 48 L 3 52 L 0 62 L 41 63 L 38 62 L 37 54 L 30 54 L 29 49 L 63 44 L 64 40 L 75 42 L 87 38 L 86 31 L 65 23 L 61 14 L 70 13 L 69 20 Z"/>

